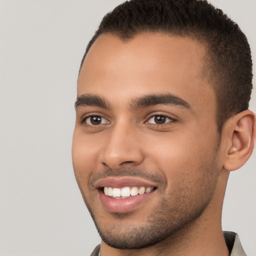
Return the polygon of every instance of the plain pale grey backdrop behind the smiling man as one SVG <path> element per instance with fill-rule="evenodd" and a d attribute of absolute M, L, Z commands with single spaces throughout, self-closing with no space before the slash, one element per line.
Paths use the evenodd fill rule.
<path fill-rule="evenodd" d="M 120 2 L 0 1 L 1 256 L 89 255 L 100 241 L 72 170 L 73 104 L 86 44 Z M 211 2 L 245 32 L 255 63 L 256 1 Z M 223 229 L 239 234 L 248 256 L 256 256 L 255 166 L 254 151 L 230 174 L 223 208 Z"/>

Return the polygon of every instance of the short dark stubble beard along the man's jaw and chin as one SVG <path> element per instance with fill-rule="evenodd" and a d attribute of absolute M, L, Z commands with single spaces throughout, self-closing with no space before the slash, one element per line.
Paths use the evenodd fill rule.
<path fill-rule="evenodd" d="M 192 184 L 190 180 L 184 182 L 184 179 L 180 184 L 176 184 L 171 194 L 163 196 L 148 215 L 146 224 L 125 225 L 125 218 L 132 214 L 129 212 L 112 213 L 116 219 L 115 223 L 105 223 L 102 217 L 100 221 L 83 195 L 101 239 L 113 248 L 140 249 L 166 239 L 171 242 L 182 236 L 189 224 L 202 214 L 213 196 L 219 173 L 215 163 L 214 158 L 205 173 Z M 197 186 L 196 191 L 192 190 L 194 186 Z"/>

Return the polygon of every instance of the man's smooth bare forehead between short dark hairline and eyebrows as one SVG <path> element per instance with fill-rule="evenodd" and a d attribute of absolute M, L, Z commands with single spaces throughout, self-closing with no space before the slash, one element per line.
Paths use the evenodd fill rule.
<path fill-rule="evenodd" d="M 133 96 L 172 93 L 201 107 L 204 99 L 214 101 L 203 75 L 204 55 L 204 45 L 189 37 L 143 33 L 124 41 L 103 34 L 84 59 L 77 94 L 116 96 L 124 102 Z"/>

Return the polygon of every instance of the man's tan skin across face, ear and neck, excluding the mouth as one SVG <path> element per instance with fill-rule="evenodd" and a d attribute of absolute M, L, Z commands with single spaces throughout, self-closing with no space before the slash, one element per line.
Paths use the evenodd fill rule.
<path fill-rule="evenodd" d="M 188 37 L 144 33 L 124 42 L 104 34 L 85 57 L 72 159 L 101 234 L 101 255 L 229 254 L 222 202 L 229 171 L 252 151 L 255 120 L 243 111 L 224 124 L 220 137 L 215 94 L 202 74 L 204 54 L 204 45 Z M 187 105 L 134 103 L 166 94 Z M 155 123 L 157 115 L 166 116 L 164 123 Z M 90 116 L 101 121 L 93 124 Z M 238 122 L 246 135 L 234 132 Z M 138 206 L 113 212 L 99 196 L 97 182 L 105 177 L 132 177 L 156 189 Z"/>

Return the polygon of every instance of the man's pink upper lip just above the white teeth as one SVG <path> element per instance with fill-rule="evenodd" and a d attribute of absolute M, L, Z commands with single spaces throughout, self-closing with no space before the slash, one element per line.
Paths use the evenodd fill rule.
<path fill-rule="evenodd" d="M 99 189 L 104 186 L 124 187 L 124 186 L 144 186 L 156 187 L 156 183 L 140 177 L 107 177 L 95 181 L 94 186 Z"/>

